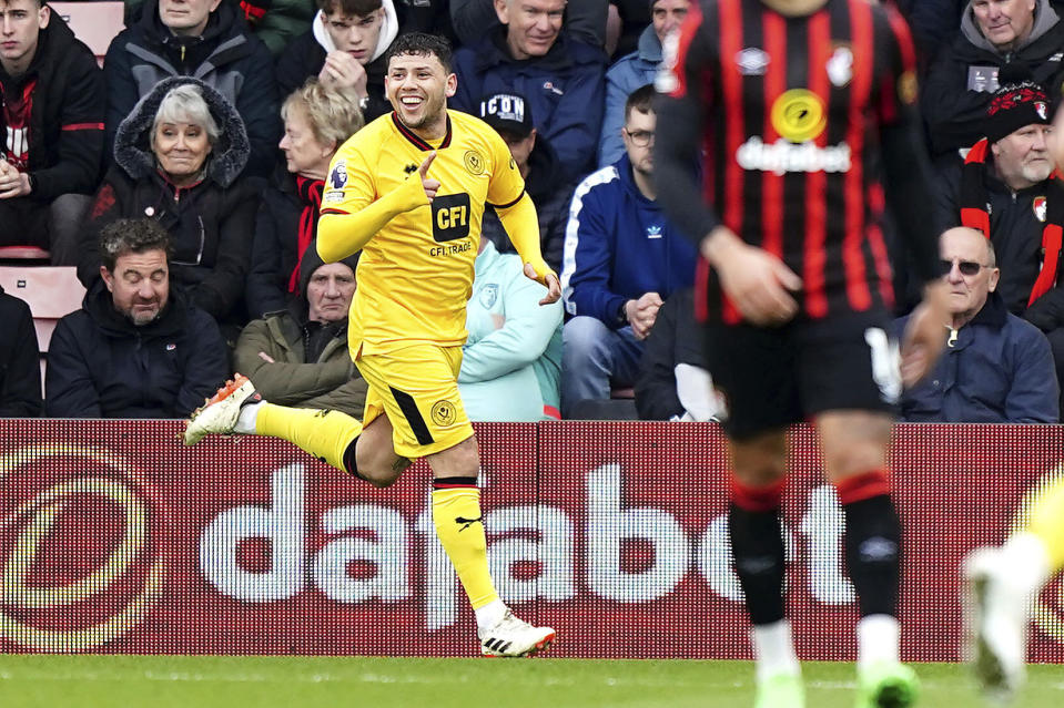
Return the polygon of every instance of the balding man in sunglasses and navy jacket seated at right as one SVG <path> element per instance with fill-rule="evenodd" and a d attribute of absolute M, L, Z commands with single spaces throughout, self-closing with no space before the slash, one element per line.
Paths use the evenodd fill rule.
<path fill-rule="evenodd" d="M 916 423 L 1055 423 L 1056 372 L 1045 335 L 1009 312 L 997 293 L 993 243 L 957 226 L 939 244 L 950 286 L 950 338 L 931 373 L 906 390 L 902 419 Z M 909 318 L 896 322 L 902 331 Z"/>

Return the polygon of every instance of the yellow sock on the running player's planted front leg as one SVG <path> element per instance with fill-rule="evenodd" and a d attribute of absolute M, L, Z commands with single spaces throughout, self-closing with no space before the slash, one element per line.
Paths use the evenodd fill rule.
<path fill-rule="evenodd" d="M 474 609 L 498 599 L 488 573 L 487 538 L 476 478 L 433 481 L 433 523 Z"/>

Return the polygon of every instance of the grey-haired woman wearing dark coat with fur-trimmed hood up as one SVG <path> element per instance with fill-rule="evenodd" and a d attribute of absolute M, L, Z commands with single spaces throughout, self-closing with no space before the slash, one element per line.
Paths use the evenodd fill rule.
<path fill-rule="evenodd" d="M 241 176 L 249 154 L 243 121 L 220 93 L 190 76 L 161 81 L 118 129 L 78 277 L 85 287 L 99 277 L 103 226 L 149 216 L 170 233 L 171 281 L 220 324 L 239 321 L 259 208 Z"/>

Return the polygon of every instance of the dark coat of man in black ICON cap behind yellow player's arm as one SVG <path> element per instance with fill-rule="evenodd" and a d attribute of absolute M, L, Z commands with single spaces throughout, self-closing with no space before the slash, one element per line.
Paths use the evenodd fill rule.
<path fill-rule="evenodd" d="M 565 176 L 561 163 L 545 137 L 536 136 L 536 146 L 528 155 L 525 192 L 536 205 L 539 217 L 539 249 L 555 273 L 561 268 L 565 228 L 569 223 L 569 202 L 576 183 Z M 494 208 L 484 209 L 480 237 L 489 238 L 500 254 L 517 253 Z"/>

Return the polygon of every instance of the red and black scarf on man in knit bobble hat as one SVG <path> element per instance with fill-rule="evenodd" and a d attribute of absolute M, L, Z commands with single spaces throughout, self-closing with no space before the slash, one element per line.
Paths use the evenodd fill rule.
<path fill-rule="evenodd" d="M 986 152 L 990 143 L 984 137 L 975 143 L 964 158 L 961 172 L 961 224 L 974 228 L 990 238 L 990 211 L 987 209 L 985 174 Z M 1051 189 L 1046 193 L 1045 228 L 1042 229 L 1042 269 L 1031 288 L 1027 307 L 1056 285 L 1056 271 L 1061 260 L 1061 246 L 1064 242 L 1064 193 L 1058 193 L 1061 173 L 1054 170 L 1050 175 Z"/>

